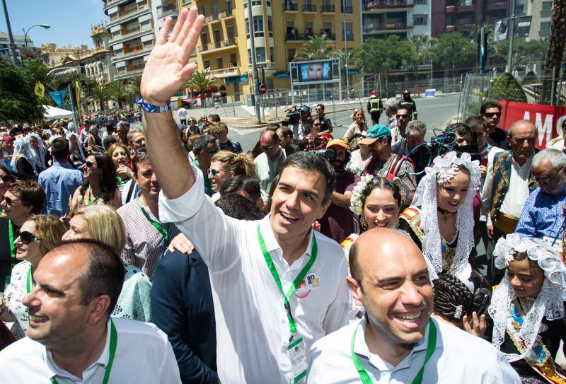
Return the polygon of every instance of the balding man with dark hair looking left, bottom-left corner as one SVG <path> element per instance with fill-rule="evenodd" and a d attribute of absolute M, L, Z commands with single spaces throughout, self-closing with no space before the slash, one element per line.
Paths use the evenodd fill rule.
<path fill-rule="evenodd" d="M 0 352 L 0 383 L 180 383 L 166 334 L 110 318 L 124 275 L 120 257 L 95 240 L 47 252 L 23 298 L 28 337 Z"/>

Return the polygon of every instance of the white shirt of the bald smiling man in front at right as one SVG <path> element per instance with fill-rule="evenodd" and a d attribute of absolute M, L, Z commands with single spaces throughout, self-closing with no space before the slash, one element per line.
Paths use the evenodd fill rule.
<path fill-rule="evenodd" d="M 454 325 L 434 321 L 437 325 L 437 345 L 424 366 L 422 383 L 483 383 L 519 384 L 521 380 L 504 354 L 480 337 L 472 336 Z M 364 328 L 366 320 L 354 322 L 333 334 L 318 340 L 311 349 L 308 384 L 361 383 L 352 361 L 352 334 L 354 353 L 374 383 L 412 383 L 427 354 L 429 327 L 424 338 L 397 366 L 393 366 L 367 347 Z"/>

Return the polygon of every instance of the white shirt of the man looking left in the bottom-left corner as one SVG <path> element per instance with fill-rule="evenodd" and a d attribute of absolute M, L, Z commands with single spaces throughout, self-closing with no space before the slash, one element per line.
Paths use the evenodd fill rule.
<path fill-rule="evenodd" d="M 117 347 L 108 383 L 180 383 L 175 354 L 167 335 L 147 322 L 112 318 Z M 98 359 L 78 378 L 59 368 L 50 349 L 29 337 L 0 352 L 0 383 L 45 383 L 54 378 L 59 384 L 103 382 L 110 356 L 110 320 L 106 344 Z"/>

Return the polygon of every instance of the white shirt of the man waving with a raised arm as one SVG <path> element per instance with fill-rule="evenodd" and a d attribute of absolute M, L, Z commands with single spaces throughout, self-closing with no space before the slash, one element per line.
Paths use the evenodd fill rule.
<path fill-rule="evenodd" d="M 192 172 L 197 178 L 195 185 L 202 185 L 202 175 L 194 167 Z M 221 383 L 291 383 L 284 298 L 267 268 L 257 228 L 259 224 L 286 292 L 311 257 L 312 235 L 306 252 L 289 265 L 275 240 L 269 216 L 261 221 L 232 219 L 216 208 L 200 187 L 193 186 L 178 199 L 161 194 L 159 214 L 180 228 L 209 268 Z M 317 284 L 301 284 L 289 298 L 297 331 L 306 343 L 307 361 L 313 342 L 346 325 L 349 310 L 342 249 L 325 235 L 313 233 L 318 256 L 305 280 L 318 279 Z"/>

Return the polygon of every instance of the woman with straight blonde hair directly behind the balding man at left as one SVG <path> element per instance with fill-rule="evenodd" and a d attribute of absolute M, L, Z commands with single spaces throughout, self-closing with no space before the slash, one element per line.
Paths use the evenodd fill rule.
<path fill-rule="evenodd" d="M 116 209 L 109 205 L 96 204 L 76 209 L 69 221 L 70 229 L 63 240 L 91 238 L 110 246 L 117 257 L 126 245 L 126 228 Z M 151 321 L 151 281 L 141 269 L 124 262 L 126 276 L 122 293 L 112 317 Z"/>

